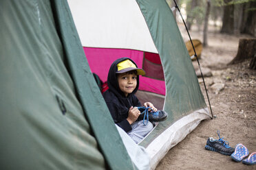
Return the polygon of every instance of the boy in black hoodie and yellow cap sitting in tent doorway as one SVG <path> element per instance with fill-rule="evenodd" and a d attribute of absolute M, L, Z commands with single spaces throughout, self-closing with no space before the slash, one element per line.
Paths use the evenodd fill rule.
<path fill-rule="evenodd" d="M 147 124 L 140 119 L 141 106 L 140 101 L 134 95 L 138 90 L 139 76 L 145 75 L 143 69 L 138 69 L 136 63 L 129 58 L 120 58 L 111 64 L 109 74 L 107 76 L 107 84 L 109 89 L 103 93 L 103 97 L 107 103 L 114 122 L 125 130 L 129 136 L 139 143 L 152 129 L 153 125 L 149 121 Z M 150 107 L 153 112 L 157 109 L 150 102 L 143 104 Z M 159 112 L 156 120 L 162 121 L 167 117 L 166 112 Z M 151 121 L 152 117 L 151 117 Z"/>

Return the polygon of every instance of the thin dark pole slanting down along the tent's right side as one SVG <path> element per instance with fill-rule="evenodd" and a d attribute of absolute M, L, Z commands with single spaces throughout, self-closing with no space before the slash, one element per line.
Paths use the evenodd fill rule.
<path fill-rule="evenodd" d="M 175 3 L 175 8 L 177 8 L 178 11 L 179 11 L 179 13 L 180 13 L 180 8 L 178 7 L 176 1 L 175 1 L 175 0 L 173 0 L 173 1 L 174 1 L 174 3 Z M 181 13 L 180 13 L 180 16 L 182 17 L 182 14 L 181 14 Z M 184 23 L 184 25 L 185 25 L 185 27 L 186 27 L 186 23 L 185 23 L 183 17 L 182 17 L 182 21 L 183 21 L 183 23 Z M 192 42 L 192 40 L 191 40 L 191 36 L 190 36 L 190 34 L 189 34 L 189 29 L 188 29 L 187 27 L 186 27 L 186 32 L 187 32 L 188 35 L 189 35 L 189 40 L 190 40 L 190 42 L 191 42 L 191 45 L 192 45 L 192 47 L 193 47 L 193 51 L 194 51 L 194 53 L 195 53 L 194 56 L 195 56 L 196 60 L 198 61 L 198 66 L 199 66 L 199 69 L 200 69 L 200 73 L 201 73 L 201 76 L 202 76 L 202 80 L 203 80 L 203 82 L 204 82 L 204 75 L 202 74 L 202 70 L 201 70 L 201 67 L 200 67 L 199 60 L 198 60 L 198 55 L 197 55 L 196 52 L 195 52 L 195 47 L 194 47 L 194 45 L 193 45 L 193 42 Z M 209 107 L 210 107 L 210 110 L 211 110 L 211 103 L 210 103 L 210 99 L 209 99 L 209 95 L 208 95 L 208 92 L 207 92 L 207 88 L 206 88 L 205 82 L 204 82 L 204 89 L 205 89 L 205 91 L 206 91 L 206 96 L 207 96 L 208 103 L 209 103 Z M 211 110 L 211 119 L 213 119 L 213 111 L 212 111 L 212 110 Z"/>

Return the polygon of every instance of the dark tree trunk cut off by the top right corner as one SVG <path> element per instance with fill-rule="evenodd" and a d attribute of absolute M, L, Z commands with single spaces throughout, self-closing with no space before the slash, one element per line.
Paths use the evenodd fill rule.
<path fill-rule="evenodd" d="M 256 1 L 250 1 L 244 5 L 244 26 L 241 33 L 256 35 Z M 253 9 L 254 8 L 254 9 Z"/>

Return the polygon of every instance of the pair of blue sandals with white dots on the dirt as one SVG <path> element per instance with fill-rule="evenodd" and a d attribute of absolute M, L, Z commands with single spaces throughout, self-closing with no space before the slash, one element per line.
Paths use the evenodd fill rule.
<path fill-rule="evenodd" d="M 256 152 L 253 152 L 253 154 L 250 154 L 248 156 L 249 151 L 248 149 L 242 145 L 241 143 L 237 144 L 235 147 L 235 151 L 233 154 L 231 154 L 231 158 L 235 160 L 236 162 L 242 162 L 246 165 L 255 165 L 256 164 Z M 248 156 L 248 158 L 246 158 Z M 246 158 L 246 159 L 244 159 Z"/>

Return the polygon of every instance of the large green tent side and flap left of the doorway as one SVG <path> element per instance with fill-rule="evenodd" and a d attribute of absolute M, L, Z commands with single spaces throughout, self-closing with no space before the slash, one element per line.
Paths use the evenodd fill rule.
<path fill-rule="evenodd" d="M 1 1 L 0 23 L 0 168 L 136 169 L 67 1 Z"/>

